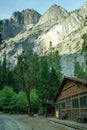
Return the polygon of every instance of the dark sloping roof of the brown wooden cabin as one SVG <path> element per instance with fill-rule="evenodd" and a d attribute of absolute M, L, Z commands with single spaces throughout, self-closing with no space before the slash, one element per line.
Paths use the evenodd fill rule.
<path fill-rule="evenodd" d="M 87 85 L 87 79 L 64 76 L 64 78 L 63 78 L 63 80 L 62 80 L 62 83 L 61 83 L 61 85 L 60 85 L 60 87 L 59 87 L 59 89 L 58 89 L 58 91 L 57 91 L 57 93 L 56 93 L 56 95 L 55 95 L 55 97 L 54 97 L 54 99 L 53 99 L 54 102 L 55 102 L 56 99 L 58 98 L 58 96 L 59 96 L 61 90 L 63 89 L 64 82 L 65 82 L 67 79 L 68 79 L 68 80 L 71 80 L 71 81 L 74 81 L 74 82 L 78 82 L 78 83 L 86 84 L 86 85 Z"/>

